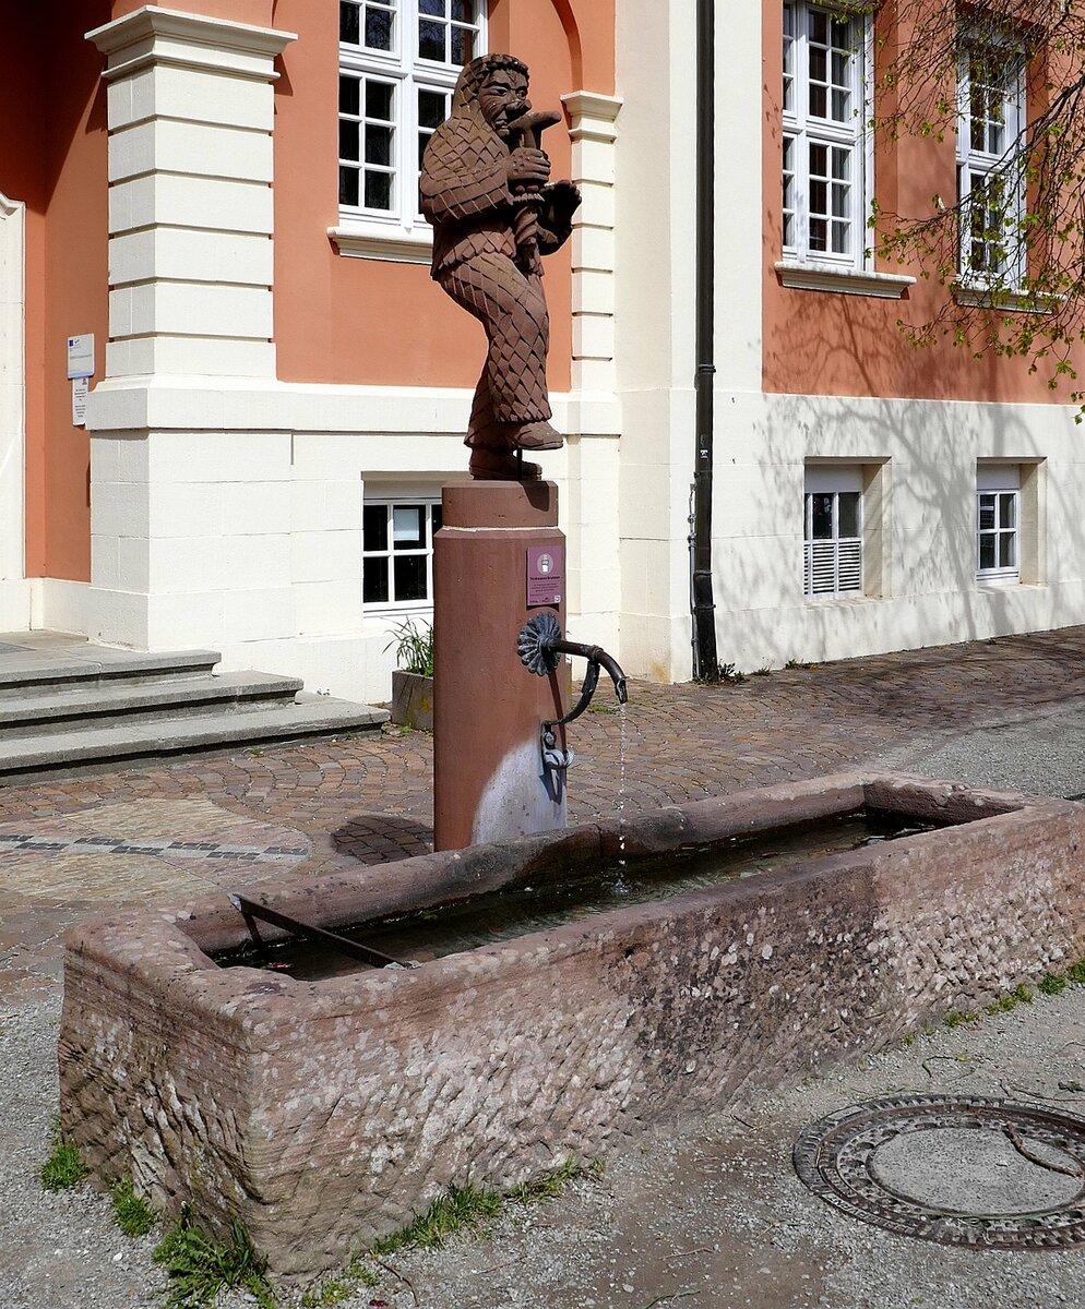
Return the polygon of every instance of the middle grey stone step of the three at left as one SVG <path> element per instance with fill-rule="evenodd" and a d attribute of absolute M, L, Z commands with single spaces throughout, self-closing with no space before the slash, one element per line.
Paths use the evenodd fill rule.
<path fill-rule="evenodd" d="M 121 723 L 177 719 L 220 707 L 252 713 L 270 703 L 292 704 L 303 682 L 270 673 L 223 673 L 219 677 L 172 677 L 162 681 L 105 681 L 0 690 L 0 733 L 25 736 L 81 730 Z"/>

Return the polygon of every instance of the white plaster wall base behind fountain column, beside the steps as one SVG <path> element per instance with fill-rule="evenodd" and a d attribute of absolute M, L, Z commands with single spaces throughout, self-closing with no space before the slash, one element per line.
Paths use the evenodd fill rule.
<path fill-rule="evenodd" d="M 142 649 L 211 647 L 224 668 L 385 700 L 396 615 L 362 609 L 366 491 L 436 497 L 466 476 L 469 408 L 468 390 L 102 382 L 89 398 L 92 585 L 76 630 Z M 562 525 L 582 543 L 570 547 L 582 586 L 570 620 L 617 649 L 616 406 L 558 395 L 554 412 L 566 429 L 584 414 L 600 425 L 544 462 L 565 488 Z"/>

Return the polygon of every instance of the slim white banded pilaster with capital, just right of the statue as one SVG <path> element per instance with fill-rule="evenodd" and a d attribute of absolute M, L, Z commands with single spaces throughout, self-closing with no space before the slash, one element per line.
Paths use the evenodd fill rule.
<path fill-rule="evenodd" d="M 573 181 L 582 203 L 573 223 L 573 390 L 613 391 L 615 127 L 621 99 L 562 96 L 571 119 Z"/>

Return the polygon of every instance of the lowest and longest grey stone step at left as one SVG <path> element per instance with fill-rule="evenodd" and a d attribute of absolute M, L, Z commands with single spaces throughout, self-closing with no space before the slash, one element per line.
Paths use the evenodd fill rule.
<path fill-rule="evenodd" d="M 46 774 L 71 776 L 229 746 L 373 730 L 387 721 L 385 709 L 303 692 L 297 703 L 244 713 L 219 709 L 34 737 L 13 737 L 4 732 L 0 734 L 0 781 L 33 781 Z"/>

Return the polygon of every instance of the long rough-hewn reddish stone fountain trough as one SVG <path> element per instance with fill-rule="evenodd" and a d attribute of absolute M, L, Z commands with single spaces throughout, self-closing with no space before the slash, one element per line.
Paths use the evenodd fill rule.
<path fill-rule="evenodd" d="M 449 1183 L 508 1187 L 653 1119 L 856 1059 L 1085 956 L 1085 808 L 839 775 L 261 886 L 325 927 L 879 810 L 938 830 L 409 970 L 220 967 L 225 897 L 68 933 L 62 1127 L 92 1174 L 236 1216 L 280 1280 Z M 274 936 L 274 932 L 267 933 Z"/>

